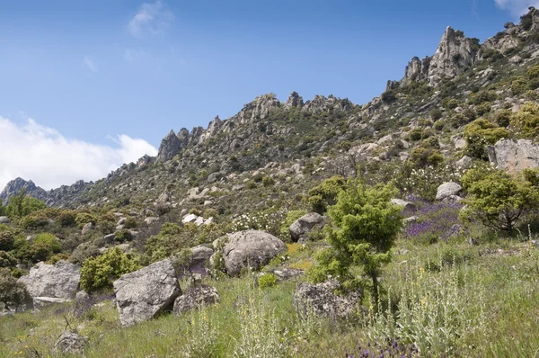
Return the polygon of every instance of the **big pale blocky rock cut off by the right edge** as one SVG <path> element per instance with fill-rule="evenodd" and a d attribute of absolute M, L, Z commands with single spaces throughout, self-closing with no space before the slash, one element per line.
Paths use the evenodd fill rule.
<path fill-rule="evenodd" d="M 529 139 L 500 139 L 486 149 L 490 163 L 511 174 L 539 166 L 539 146 Z"/>

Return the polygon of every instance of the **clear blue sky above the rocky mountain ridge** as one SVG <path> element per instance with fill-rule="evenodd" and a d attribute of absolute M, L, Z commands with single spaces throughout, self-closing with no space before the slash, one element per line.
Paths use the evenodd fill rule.
<path fill-rule="evenodd" d="M 133 160 L 155 155 L 169 130 L 206 127 L 260 94 L 367 103 L 413 56 L 432 55 L 447 25 L 485 40 L 535 3 L 2 0 L 0 118 L 22 137 L 54 131 L 52 143 L 131 150 L 122 138 L 145 139 L 115 159 Z M 0 172 L 0 186 L 21 172 L 31 175 Z"/>

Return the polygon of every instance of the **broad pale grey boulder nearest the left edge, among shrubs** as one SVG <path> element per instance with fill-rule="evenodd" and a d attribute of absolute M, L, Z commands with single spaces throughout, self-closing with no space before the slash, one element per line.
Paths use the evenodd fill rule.
<path fill-rule="evenodd" d="M 80 280 L 80 267 L 60 260 L 56 264 L 36 264 L 30 269 L 29 274 L 19 279 L 19 282 L 24 283 L 31 298 L 71 300 L 78 291 Z"/>

